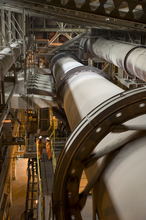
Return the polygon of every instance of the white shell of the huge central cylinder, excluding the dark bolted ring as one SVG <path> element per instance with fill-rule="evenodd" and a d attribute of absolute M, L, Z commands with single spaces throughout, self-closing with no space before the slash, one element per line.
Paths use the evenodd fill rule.
<path fill-rule="evenodd" d="M 62 87 L 62 105 L 71 130 L 73 130 L 83 117 L 86 117 L 96 106 L 123 90 L 98 73 L 91 71 L 89 67 L 81 70 L 83 68 L 82 64 L 70 57 L 61 57 L 54 61 L 52 70 L 57 87 L 61 85 L 64 77 L 70 74 L 69 70 L 71 68 L 73 68 L 74 74 L 66 78 L 64 87 Z M 142 115 L 125 124 L 140 126 L 145 125 L 145 121 L 146 115 Z M 94 152 L 104 149 L 113 141 L 125 140 L 129 135 L 134 137 L 135 134 L 134 131 L 127 131 L 122 135 L 109 133 L 98 144 Z M 93 190 L 99 219 L 142 220 L 145 218 L 145 142 L 145 136 L 139 137 L 109 155 L 109 163 Z M 90 147 L 90 144 L 88 147 Z M 89 182 L 100 162 L 95 163 L 86 170 Z"/>

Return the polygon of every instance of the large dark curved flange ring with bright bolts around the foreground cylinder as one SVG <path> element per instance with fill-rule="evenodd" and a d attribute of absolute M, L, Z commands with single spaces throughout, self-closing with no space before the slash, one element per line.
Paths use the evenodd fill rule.
<path fill-rule="evenodd" d="M 97 144 L 120 125 L 146 113 L 146 89 L 120 93 L 93 109 L 70 135 L 58 159 L 54 177 L 54 208 L 59 220 L 82 219 L 79 183 L 84 161 Z M 89 147 L 90 146 L 90 147 Z"/>

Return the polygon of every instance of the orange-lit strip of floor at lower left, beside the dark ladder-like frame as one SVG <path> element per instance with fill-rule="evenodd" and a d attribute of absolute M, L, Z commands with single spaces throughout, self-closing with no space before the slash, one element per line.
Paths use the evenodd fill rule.
<path fill-rule="evenodd" d="M 27 191 L 27 162 L 28 159 L 16 161 L 16 180 L 12 180 L 12 211 L 11 220 L 20 220 L 25 210 L 25 199 Z"/>

